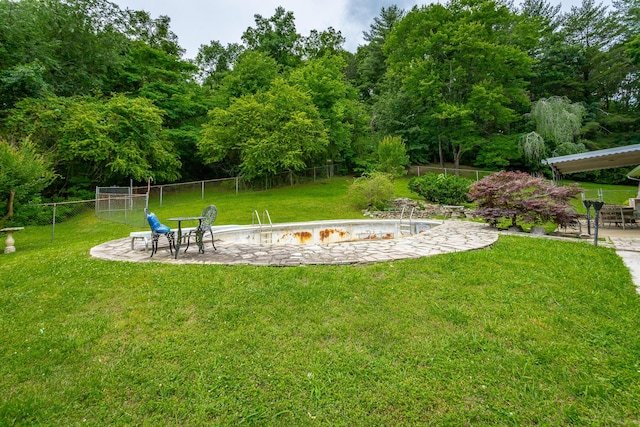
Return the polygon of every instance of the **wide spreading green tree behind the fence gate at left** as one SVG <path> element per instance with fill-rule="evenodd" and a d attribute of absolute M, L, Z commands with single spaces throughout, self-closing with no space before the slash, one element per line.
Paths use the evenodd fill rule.
<path fill-rule="evenodd" d="M 51 153 L 57 173 L 72 185 L 174 181 L 180 161 L 162 137 L 162 111 L 145 98 L 48 97 L 21 101 L 9 117 L 12 133 Z"/>

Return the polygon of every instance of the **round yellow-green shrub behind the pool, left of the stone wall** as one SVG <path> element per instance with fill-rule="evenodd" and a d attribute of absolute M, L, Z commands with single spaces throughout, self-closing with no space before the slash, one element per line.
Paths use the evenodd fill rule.
<path fill-rule="evenodd" d="M 349 186 L 349 201 L 357 209 L 383 210 L 393 199 L 391 177 L 382 172 L 371 172 L 356 178 Z"/>

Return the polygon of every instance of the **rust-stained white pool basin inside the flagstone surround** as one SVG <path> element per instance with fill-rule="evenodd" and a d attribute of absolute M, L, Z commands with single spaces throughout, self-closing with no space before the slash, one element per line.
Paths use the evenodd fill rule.
<path fill-rule="evenodd" d="M 419 234 L 440 225 L 429 220 L 343 219 L 245 225 L 215 230 L 216 240 L 245 244 L 319 245 L 387 240 Z"/>

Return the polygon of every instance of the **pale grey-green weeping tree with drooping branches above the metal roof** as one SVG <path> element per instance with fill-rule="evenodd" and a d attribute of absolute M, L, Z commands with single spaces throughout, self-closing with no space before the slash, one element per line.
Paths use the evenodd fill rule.
<path fill-rule="evenodd" d="M 553 144 L 553 155 L 563 156 L 585 151 L 584 144 L 576 143 L 585 108 L 571 103 L 566 97 L 552 96 L 536 101 L 531 107 L 531 118 L 536 123 L 536 133 L 545 143 Z M 539 144 L 535 141 L 535 144 Z"/>

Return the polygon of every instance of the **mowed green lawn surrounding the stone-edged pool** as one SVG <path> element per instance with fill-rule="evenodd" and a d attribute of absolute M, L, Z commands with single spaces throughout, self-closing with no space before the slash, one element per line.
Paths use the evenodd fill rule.
<path fill-rule="evenodd" d="M 157 210 L 357 215 L 345 182 Z M 85 216 L 54 243 L 27 227 L 0 255 L 0 425 L 640 422 L 640 296 L 609 248 L 502 236 L 366 266 L 89 258 L 128 231 Z"/>

